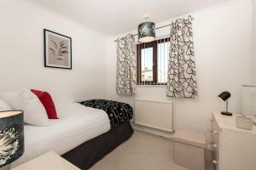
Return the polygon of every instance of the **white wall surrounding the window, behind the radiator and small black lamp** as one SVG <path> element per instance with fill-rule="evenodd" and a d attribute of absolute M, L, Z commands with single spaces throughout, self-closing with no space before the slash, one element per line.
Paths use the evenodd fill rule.
<path fill-rule="evenodd" d="M 240 111 L 240 86 L 251 82 L 251 0 L 224 3 L 192 14 L 195 17 L 195 61 L 198 99 L 171 99 L 166 87 L 137 86 L 136 97 L 171 99 L 174 102 L 175 127 L 207 131 L 211 112 L 224 110 L 216 96 L 224 90 L 232 94 L 230 111 Z M 158 23 L 169 24 L 171 20 Z M 169 33 L 169 29 L 165 30 Z M 136 33 L 136 31 L 131 31 Z M 158 36 L 164 34 L 157 32 Z M 121 35 L 123 36 L 123 35 Z M 119 36 L 116 36 L 119 37 Z M 112 99 L 133 104 L 134 97 L 115 94 L 116 44 L 111 37 L 108 46 L 108 92 Z"/>

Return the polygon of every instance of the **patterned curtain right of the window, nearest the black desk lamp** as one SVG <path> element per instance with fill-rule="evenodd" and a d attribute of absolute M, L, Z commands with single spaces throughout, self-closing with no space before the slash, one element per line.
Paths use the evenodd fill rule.
<path fill-rule="evenodd" d="M 172 23 L 167 80 L 167 96 L 172 98 L 197 97 L 191 22 L 192 17 L 189 16 L 189 19 L 178 19 Z"/>

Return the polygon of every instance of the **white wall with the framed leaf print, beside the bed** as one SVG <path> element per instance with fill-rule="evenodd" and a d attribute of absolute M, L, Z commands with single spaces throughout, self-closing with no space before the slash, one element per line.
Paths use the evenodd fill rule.
<path fill-rule="evenodd" d="M 0 21 L 0 91 L 38 88 L 58 102 L 106 96 L 106 37 L 18 0 L 0 1 Z M 44 28 L 73 38 L 73 70 L 44 67 Z"/>

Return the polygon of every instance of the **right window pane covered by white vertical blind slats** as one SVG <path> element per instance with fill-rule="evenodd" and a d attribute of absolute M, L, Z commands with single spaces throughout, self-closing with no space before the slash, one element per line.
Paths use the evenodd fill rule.
<path fill-rule="evenodd" d="M 167 82 L 168 56 L 170 42 L 158 44 L 157 51 L 157 82 Z"/>

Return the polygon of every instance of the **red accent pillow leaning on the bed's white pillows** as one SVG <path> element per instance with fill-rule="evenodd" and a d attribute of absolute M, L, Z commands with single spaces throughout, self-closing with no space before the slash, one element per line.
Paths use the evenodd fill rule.
<path fill-rule="evenodd" d="M 33 94 L 38 96 L 38 99 L 44 105 L 45 111 L 47 112 L 49 119 L 58 119 L 57 112 L 55 109 L 55 103 L 53 102 L 51 96 L 47 92 L 42 92 L 39 90 L 31 90 Z"/>

